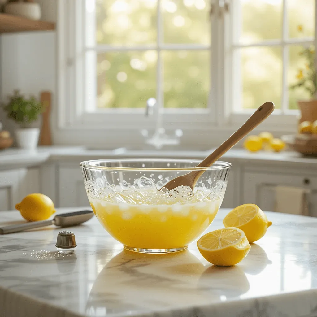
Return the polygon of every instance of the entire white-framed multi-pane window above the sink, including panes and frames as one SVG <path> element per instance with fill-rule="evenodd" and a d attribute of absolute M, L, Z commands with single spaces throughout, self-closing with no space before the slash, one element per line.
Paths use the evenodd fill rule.
<path fill-rule="evenodd" d="M 139 137 L 160 120 L 196 142 L 271 100 L 265 125 L 291 131 L 296 100 L 310 98 L 290 86 L 314 49 L 315 0 L 59 0 L 58 12 L 62 130 Z"/>

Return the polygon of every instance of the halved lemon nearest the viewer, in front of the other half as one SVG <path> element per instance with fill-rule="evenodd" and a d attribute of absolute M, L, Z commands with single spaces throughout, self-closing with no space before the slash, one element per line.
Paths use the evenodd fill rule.
<path fill-rule="evenodd" d="M 231 227 L 205 234 L 197 241 L 197 247 L 208 262 L 219 266 L 241 262 L 251 248 L 244 232 Z"/>

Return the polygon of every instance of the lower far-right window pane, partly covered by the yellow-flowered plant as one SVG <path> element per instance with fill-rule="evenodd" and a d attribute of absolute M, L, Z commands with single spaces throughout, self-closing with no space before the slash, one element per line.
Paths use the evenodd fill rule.
<path fill-rule="evenodd" d="M 314 48 L 305 48 L 301 45 L 289 47 L 288 61 L 288 85 L 290 109 L 297 109 L 297 100 L 307 100 L 313 98 L 314 88 L 311 66 L 314 66 Z M 307 81 L 305 81 L 307 79 Z M 294 85 L 301 84 L 300 87 Z"/>

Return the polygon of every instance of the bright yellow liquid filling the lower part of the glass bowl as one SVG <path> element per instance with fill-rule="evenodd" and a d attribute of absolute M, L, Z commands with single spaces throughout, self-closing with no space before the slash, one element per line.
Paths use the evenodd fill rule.
<path fill-rule="evenodd" d="M 197 239 L 214 220 L 218 201 L 192 204 L 127 204 L 89 197 L 99 222 L 130 248 L 174 249 Z"/>

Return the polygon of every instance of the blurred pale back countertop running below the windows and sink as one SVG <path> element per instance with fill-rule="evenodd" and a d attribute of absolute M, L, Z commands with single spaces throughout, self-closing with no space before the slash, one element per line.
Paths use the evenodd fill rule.
<path fill-rule="evenodd" d="M 79 164 L 81 161 L 90 159 L 111 158 L 191 158 L 204 159 L 213 149 L 207 151 L 180 151 L 180 150 L 127 150 L 125 148 L 115 150 L 92 150 L 82 146 L 60 147 L 43 146 L 34 152 L 10 148 L 0 151 L 0 169 L 13 169 L 41 165 L 49 162 L 71 162 Z M 283 151 L 281 153 L 256 152 L 250 153 L 241 148 L 234 148 L 225 153 L 222 160 L 230 163 L 255 163 L 273 164 L 317 168 L 317 159 L 304 157 L 300 153 Z"/>

